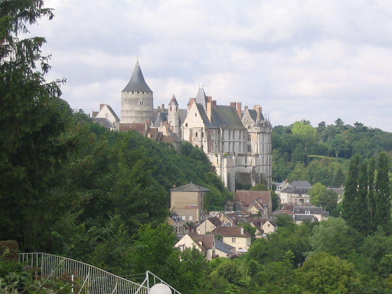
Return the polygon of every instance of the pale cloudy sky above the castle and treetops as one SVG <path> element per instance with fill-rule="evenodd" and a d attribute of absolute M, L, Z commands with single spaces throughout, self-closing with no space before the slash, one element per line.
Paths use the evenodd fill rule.
<path fill-rule="evenodd" d="M 48 79 L 86 113 L 110 104 L 136 56 L 154 106 L 185 108 L 198 84 L 218 104 L 260 104 L 272 125 L 341 118 L 392 132 L 391 0 L 46 0 L 31 28 Z"/>

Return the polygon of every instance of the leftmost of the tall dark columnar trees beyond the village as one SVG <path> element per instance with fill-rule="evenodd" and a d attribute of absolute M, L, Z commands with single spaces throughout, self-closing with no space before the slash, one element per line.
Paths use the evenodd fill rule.
<path fill-rule="evenodd" d="M 357 198 L 358 187 L 358 170 L 359 170 L 359 155 L 356 154 L 351 158 L 346 184 L 344 189 L 344 197 L 342 201 L 343 219 L 350 226 L 353 224 L 355 217 L 354 203 Z"/>

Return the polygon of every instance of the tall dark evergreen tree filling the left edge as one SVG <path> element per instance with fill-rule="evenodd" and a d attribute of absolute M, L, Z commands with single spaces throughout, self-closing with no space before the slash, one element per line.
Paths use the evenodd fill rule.
<path fill-rule="evenodd" d="M 52 193 L 74 142 L 65 133 L 72 112 L 59 98 L 62 81 L 45 80 L 45 38 L 18 37 L 42 17 L 53 17 L 42 0 L 0 2 L 0 239 L 25 250 L 39 248 L 72 202 Z"/>

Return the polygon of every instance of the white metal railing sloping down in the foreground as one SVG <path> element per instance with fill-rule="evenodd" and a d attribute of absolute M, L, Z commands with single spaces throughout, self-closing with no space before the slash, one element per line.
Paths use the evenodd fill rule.
<path fill-rule="evenodd" d="M 69 279 L 70 283 L 74 285 L 72 291 L 75 293 L 148 294 L 149 288 L 155 284 L 150 285 L 148 272 L 146 273 L 147 285 L 144 283 L 140 285 L 89 264 L 42 252 L 19 253 L 19 262 L 35 268 L 37 276 Z M 157 277 L 157 279 L 159 278 Z M 161 279 L 159 280 L 158 283 L 163 282 Z M 170 285 L 168 286 L 172 288 Z M 174 294 L 179 293 L 175 291 Z"/>

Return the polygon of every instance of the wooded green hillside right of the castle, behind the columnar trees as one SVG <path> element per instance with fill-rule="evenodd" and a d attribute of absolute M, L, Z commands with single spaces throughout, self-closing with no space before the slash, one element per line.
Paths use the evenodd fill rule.
<path fill-rule="evenodd" d="M 354 154 L 371 158 L 381 151 L 392 155 L 392 133 L 354 126 L 337 119 L 335 124 L 312 127 L 309 122 L 277 125 L 272 131 L 272 179 L 307 180 L 338 188 L 344 185 L 347 159 Z"/>

